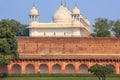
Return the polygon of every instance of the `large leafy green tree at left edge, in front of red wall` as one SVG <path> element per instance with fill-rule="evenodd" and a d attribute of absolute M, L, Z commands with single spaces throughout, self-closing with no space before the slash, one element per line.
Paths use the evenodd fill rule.
<path fill-rule="evenodd" d="M 15 20 L 0 21 L 0 55 L 18 58 L 16 32 L 19 22 Z"/>

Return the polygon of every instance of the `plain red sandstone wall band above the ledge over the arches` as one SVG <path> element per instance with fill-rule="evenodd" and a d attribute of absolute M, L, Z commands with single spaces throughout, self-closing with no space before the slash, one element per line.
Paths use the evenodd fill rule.
<path fill-rule="evenodd" d="M 20 54 L 120 54 L 118 38 L 17 38 Z"/>

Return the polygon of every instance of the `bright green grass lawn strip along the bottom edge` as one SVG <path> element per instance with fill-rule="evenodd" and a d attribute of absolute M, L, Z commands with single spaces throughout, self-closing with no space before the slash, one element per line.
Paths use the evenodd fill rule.
<path fill-rule="evenodd" d="M 96 77 L 7 77 L 0 80 L 98 80 Z M 120 80 L 120 77 L 109 77 L 106 80 Z"/>

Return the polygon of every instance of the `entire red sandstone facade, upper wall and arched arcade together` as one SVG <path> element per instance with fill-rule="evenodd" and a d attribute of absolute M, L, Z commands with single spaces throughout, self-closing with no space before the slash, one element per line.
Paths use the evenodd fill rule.
<path fill-rule="evenodd" d="M 87 73 L 88 68 L 94 64 L 110 64 L 115 73 L 120 74 L 118 38 L 21 37 L 17 41 L 20 59 L 11 59 L 11 64 L 7 67 L 9 74 L 44 73 L 42 69 L 45 68 L 49 74 Z M 29 69 L 33 71 L 29 72 Z"/>

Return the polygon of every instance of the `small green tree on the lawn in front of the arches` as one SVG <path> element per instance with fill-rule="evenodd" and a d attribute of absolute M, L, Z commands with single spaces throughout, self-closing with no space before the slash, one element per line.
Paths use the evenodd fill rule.
<path fill-rule="evenodd" d="M 102 66 L 95 64 L 89 68 L 89 71 L 96 75 L 99 80 L 106 80 L 106 75 L 113 74 L 114 68 L 111 65 Z"/>

